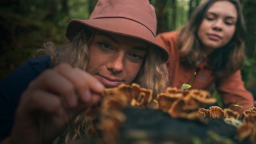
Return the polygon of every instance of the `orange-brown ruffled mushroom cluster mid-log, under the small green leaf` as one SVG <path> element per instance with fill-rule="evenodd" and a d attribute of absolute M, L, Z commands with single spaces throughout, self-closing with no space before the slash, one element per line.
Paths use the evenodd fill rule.
<path fill-rule="evenodd" d="M 198 109 L 216 103 L 216 99 L 206 90 L 188 90 L 168 87 L 158 94 L 155 101 L 159 110 L 168 112 L 173 118 L 200 119 Z"/>

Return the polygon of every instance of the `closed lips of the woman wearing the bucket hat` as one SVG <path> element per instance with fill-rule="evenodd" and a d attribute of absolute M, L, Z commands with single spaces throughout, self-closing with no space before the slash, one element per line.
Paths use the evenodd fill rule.
<path fill-rule="evenodd" d="M 105 85 L 105 87 L 117 87 L 121 83 L 124 83 L 124 80 L 121 80 L 119 78 L 110 78 L 108 76 L 102 76 L 102 75 L 97 75 L 99 78 L 100 82 Z"/>

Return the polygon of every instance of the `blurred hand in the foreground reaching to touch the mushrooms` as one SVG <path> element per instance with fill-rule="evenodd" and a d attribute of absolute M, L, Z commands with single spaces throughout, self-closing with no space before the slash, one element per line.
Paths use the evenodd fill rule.
<path fill-rule="evenodd" d="M 10 143 L 49 143 L 70 120 L 100 101 L 104 86 L 68 64 L 44 71 L 20 98 Z"/>

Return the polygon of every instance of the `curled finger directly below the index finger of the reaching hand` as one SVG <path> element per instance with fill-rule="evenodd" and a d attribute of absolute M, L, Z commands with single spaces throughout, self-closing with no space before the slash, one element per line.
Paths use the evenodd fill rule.
<path fill-rule="evenodd" d="M 67 106 L 74 107 L 77 105 L 74 84 L 54 69 L 45 70 L 42 75 L 29 84 L 29 89 L 46 90 L 63 97 Z"/>

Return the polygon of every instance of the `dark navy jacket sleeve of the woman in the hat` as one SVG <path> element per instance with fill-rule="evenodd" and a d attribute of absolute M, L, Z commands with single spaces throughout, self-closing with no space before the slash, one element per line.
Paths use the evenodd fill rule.
<path fill-rule="evenodd" d="M 50 57 L 38 57 L 25 62 L 0 82 L 0 141 L 10 136 L 22 92 L 36 76 L 49 68 Z"/>

